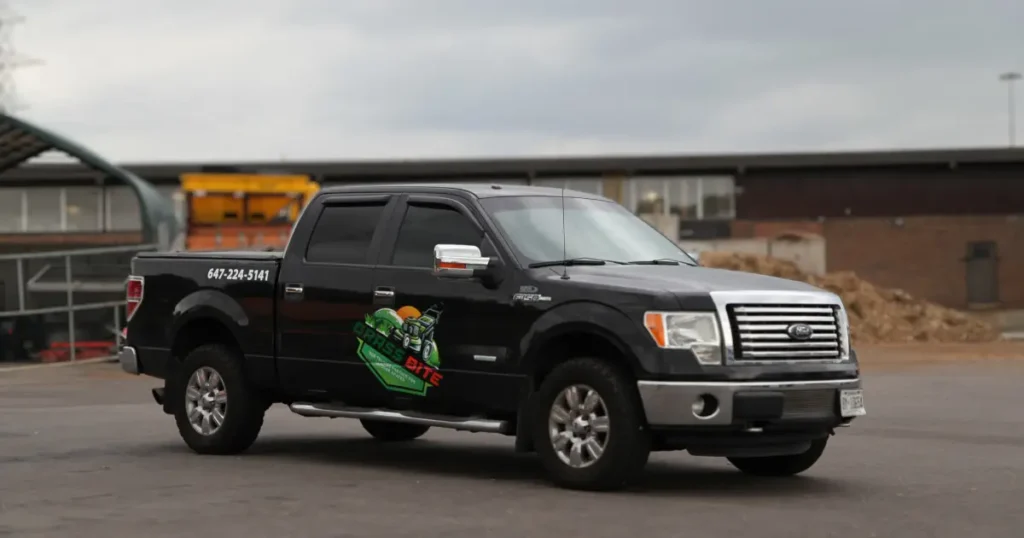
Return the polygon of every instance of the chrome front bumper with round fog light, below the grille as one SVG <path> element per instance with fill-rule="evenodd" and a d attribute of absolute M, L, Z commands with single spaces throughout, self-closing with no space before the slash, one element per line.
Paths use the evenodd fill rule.
<path fill-rule="evenodd" d="M 849 422 L 840 391 L 860 379 L 820 381 L 638 381 L 647 423 L 657 426 L 733 426 L 784 422 Z M 702 400 L 698 414 L 694 402 Z M 862 412 L 860 414 L 863 414 Z"/>

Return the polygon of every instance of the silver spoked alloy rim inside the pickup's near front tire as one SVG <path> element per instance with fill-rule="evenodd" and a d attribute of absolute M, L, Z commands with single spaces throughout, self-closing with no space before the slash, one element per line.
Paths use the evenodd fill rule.
<path fill-rule="evenodd" d="M 608 446 L 608 410 L 597 390 L 574 384 L 551 405 L 548 433 L 555 454 L 574 468 L 593 465 Z"/>

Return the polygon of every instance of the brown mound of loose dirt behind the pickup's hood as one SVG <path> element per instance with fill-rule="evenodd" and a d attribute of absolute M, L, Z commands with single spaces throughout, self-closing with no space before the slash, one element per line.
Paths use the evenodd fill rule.
<path fill-rule="evenodd" d="M 808 275 L 786 260 L 702 252 L 700 264 L 806 282 L 838 294 L 846 304 L 855 343 L 987 342 L 999 339 L 994 326 L 969 314 L 918 299 L 898 289 L 880 288 L 850 272 Z"/>

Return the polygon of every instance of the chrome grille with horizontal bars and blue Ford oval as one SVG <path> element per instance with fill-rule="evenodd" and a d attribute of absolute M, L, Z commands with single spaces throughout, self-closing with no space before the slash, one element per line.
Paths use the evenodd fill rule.
<path fill-rule="evenodd" d="M 730 304 L 734 357 L 737 361 L 840 359 L 843 334 L 839 306 L 831 304 Z M 794 324 L 813 334 L 799 340 L 788 334 Z"/>

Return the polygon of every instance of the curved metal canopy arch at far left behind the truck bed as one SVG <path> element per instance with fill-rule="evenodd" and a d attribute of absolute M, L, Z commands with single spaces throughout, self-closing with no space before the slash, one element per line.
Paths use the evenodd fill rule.
<path fill-rule="evenodd" d="M 0 114 L 0 174 L 53 150 L 68 154 L 87 168 L 102 172 L 114 182 L 126 184 L 135 193 L 141 212 L 142 243 L 156 243 L 167 248 L 177 237 L 181 224 L 174 214 L 173 203 L 150 182 L 66 136 L 10 114 Z"/>

